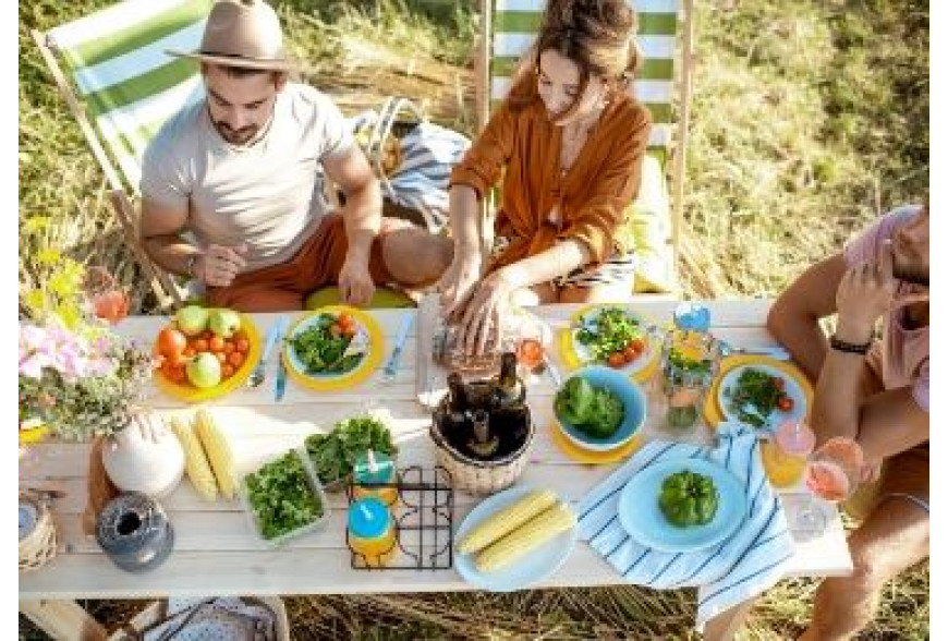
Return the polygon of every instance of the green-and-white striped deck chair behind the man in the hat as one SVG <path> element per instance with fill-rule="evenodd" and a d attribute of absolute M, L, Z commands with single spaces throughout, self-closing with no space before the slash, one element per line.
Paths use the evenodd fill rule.
<path fill-rule="evenodd" d="M 204 96 L 197 65 L 165 50 L 196 49 L 210 4 L 127 0 L 47 33 L 33 32 L 106 174 L 119 223 L 161 306 L 180 303 L 181 293 L 142 249 L 130 194 L 138 193 L 142 157 L 161 124 Z"/>

